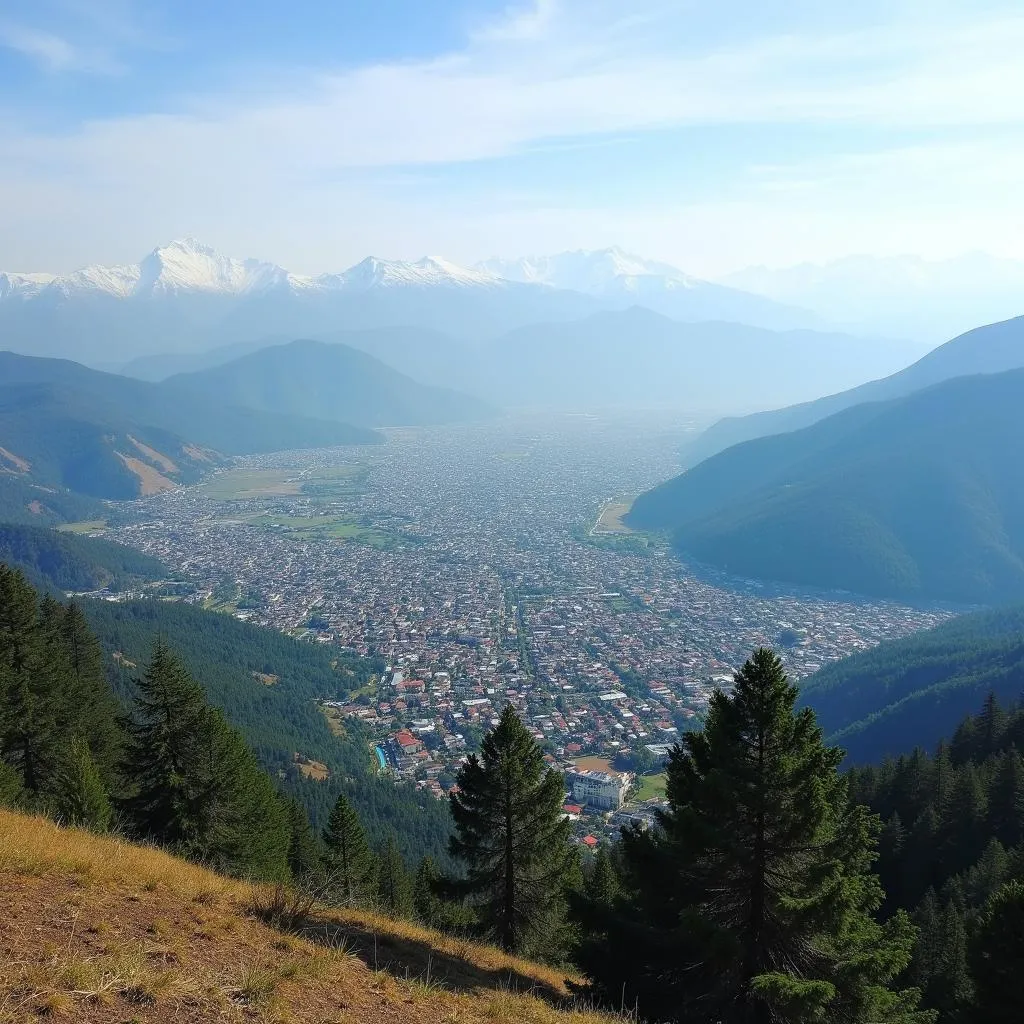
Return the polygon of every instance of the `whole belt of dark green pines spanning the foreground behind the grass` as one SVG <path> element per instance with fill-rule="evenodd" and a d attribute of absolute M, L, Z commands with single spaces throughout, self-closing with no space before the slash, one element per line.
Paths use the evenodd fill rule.
<path fill-rule="evenodd" d="M 509 707 L 451 795 L 456 869 L 411 871 L 344 791 L 314 828 L 165 642 L 126 696 L 81 609 L 0 565 L 0 804 L 574 962 L 640 1019 L 1024 1020 L 1024 706 L 991 697 L 934 756 L 844 774 L 758 650 L 673 751 L 657 826 L 586 860 Z"/>

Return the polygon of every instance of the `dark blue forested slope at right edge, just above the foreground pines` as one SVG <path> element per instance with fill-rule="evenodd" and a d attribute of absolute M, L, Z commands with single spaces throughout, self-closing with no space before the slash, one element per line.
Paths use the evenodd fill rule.
<path fill-rule="evenodd" d="M 994 692 L 1024 693 L 1024 606 L 977 612 L 880 644 L 801 683 L 829 741 L 858 763 L 931 750 Z"/>

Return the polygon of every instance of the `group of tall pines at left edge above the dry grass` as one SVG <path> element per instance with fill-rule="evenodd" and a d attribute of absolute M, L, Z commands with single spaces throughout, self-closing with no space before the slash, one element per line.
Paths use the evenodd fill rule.
<path fill-rule="evenodd" d="M 161 641 L 122 711 L 74 602 L 0 564 L 0 799 L 234 874 L 288 871 L 285 804 Z"/>

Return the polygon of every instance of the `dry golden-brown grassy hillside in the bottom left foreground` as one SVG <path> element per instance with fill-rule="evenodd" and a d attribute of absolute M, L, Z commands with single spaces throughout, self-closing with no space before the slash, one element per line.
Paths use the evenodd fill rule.
<path fill-rule="evenodd" d="M 561 972 L 407 922 L 314 911 L 286 934 L 261 921 L 271 896 L 0 810 L 0 1020 L 609 1020 L 573 1010 Z"/>

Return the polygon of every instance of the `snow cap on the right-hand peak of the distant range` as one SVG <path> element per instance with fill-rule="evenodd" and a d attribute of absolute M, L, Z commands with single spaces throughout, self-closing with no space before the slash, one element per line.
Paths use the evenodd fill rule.
<path fill-rule="evenodd" d="M 678 267 L 635 256 L 617 247 L 578 249 L 554 256 L 489 259 L 478 263 L 475 269 L 497 274 L 507 281 L 550 285 L 588 295 L 674 291 L 702 284 Z"/>

